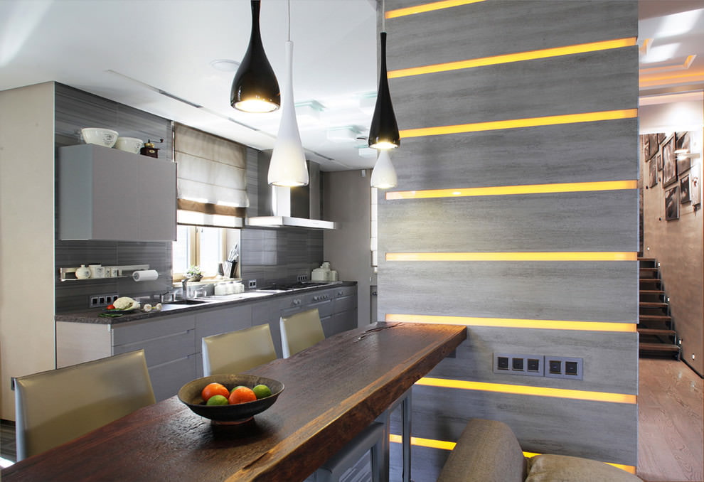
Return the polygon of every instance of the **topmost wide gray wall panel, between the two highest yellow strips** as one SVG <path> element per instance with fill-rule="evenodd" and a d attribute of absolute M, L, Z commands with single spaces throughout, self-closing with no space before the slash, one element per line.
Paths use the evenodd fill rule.
<path fill-rule="evenodd" d="M 386 11 L 427 3 L 387 0 Z M 483 1 L 389 18 L 388 68 L 636 37 L 637 18 L 636 2 L 622 0 Z"/>

